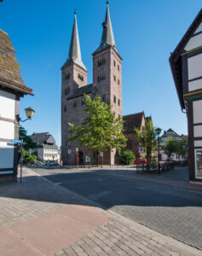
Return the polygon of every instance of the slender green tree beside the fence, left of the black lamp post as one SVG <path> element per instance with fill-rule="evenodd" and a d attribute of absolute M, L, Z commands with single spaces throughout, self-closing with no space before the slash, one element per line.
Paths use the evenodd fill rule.
<path fill-rule="evenodd" d="M 151 162 L 152 152 L 156 148 L 156 141 L 152 120 L 146 120 L 142 129 L 135 128 L 138 143 L 145 148 L 147 163 Z"/>

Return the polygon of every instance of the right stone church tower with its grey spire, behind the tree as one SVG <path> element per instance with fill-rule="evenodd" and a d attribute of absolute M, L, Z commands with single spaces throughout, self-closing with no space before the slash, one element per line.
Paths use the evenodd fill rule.
<path fill-rule="evenodd" d="M 105 21 L 102 23 L 101 44 L 93 53 L 93 83 L 96 84 L 97 94 L 102 101 L 113 106 L 113 113 L 117 117 L 122 115 L 122 58 L 113 37 L 108 3 Z M 116 162 L 115 151 L 108 153 L 107 164 L 113 165 Z"/>

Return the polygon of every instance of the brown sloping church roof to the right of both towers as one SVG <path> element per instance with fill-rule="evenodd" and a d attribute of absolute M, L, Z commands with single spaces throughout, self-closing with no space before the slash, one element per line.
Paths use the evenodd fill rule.
<path fill-rule="evenodd" d="M 141 121 L 144 115 L 144 112 L 124 115 L 124 132 L 134 132 L 135 127 L 140 129 Z"/>

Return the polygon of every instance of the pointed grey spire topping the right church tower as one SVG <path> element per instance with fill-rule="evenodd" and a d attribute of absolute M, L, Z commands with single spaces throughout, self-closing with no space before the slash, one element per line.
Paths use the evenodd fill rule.
<path fill-rule="evenodd" d="M 106 11 L 105 21 L 102 23 L 103 32 L 102 32 L 102 36 L 101 36 L 101 44 L 100 44 L 99 48 L 96 49 L 96 51 L 107 47 L 107 45 L 111 45 L 111 46 L 113 46 L 114 49 L 117 49 L 115 40 L 113 37 L 113 26 L 112 26 L 112 22 L 110 19 L 108 4 L 109 4 L 109 1 L 107 1 L 107 11 Z"/>

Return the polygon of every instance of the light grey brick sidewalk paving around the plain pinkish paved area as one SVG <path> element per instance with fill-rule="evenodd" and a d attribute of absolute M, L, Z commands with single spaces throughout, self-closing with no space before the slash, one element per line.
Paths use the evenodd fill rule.
<path fill-rule="evenodd" d="M 159 234 L 114 212 L 95 207 L 93 202 L 75 195 L 68 189 L 36 177 L 29 170 L 24 172 L 23 183 L 0 186 L 1 226 L 11 226 L 25 219 L 40 216 L 44 212 L 55 211 L 68 204 L 91 205 L 97 212 L 110 218 L 110 221 L 61 249 L 55 253 L 55 256 L 201 255 L 201 251 L 180 241 Z"/>

